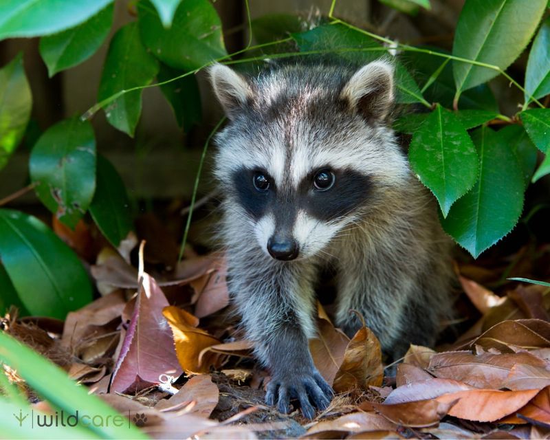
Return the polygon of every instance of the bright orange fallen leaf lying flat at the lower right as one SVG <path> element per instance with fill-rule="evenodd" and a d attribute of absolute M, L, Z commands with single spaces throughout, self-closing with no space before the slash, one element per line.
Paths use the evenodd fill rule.
<path fill-rule="evenodd" d="M 456 401 L 449 410 L 449 415 L 453 417 L 472 421 L 496 421 L 525 406 L 537 393 L 538 390 L 469 390 L 444 394 L 436 400 L 442 403 Z"/>

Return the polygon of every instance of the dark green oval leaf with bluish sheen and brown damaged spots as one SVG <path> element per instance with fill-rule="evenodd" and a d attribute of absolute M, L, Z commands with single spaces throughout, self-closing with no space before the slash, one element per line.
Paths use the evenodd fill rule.
<path fill-rule="evenodd" d="M 42 203 L 74 228 L 96 190 L 96 140 L 91 124 L 75 117 L 47 129 L 32 148 L 29 169 Z"/>

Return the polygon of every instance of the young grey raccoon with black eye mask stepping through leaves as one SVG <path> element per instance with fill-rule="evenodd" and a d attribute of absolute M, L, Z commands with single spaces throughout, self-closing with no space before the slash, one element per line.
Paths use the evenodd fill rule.
<path fill-rule="evenodd" d="M 389 126 L 393 71 L 387 60 L 210 68 L 229 120 L 214 163 L 229 289 L 280 412 L 298 399 L 312 418 L 331 401 L 308 348 L 323 267 L 336 271 L 338 327 L 353 337 L 359 311 L 393 359 L 434 344 L 450 307 L 450 242 Z"/>

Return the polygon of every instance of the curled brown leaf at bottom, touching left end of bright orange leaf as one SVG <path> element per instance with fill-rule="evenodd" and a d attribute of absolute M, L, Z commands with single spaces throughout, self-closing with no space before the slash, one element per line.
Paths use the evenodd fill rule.
<path fill-rule="evenodd" d="M 387 401 L 387 399 L 386 399 Z M 404 404 L 375 404 L 373 408 L 384 415 L 386 419 L 398 425 L 423 428 L 439 423 L 454 401 L 437 401 L 434 399 L 410 401 Z"/>

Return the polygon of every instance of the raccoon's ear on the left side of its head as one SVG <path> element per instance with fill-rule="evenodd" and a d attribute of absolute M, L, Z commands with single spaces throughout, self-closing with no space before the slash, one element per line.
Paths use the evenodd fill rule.
<path fill-rule="evenodd" d="M 234 118 L 239 111 L 252 98 L 252 89 L 245 78 L 234 72 L 230 67 L 214 64 L 210 67 L 210 82 L 225 115 Z"/>

